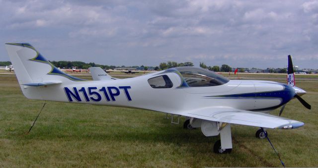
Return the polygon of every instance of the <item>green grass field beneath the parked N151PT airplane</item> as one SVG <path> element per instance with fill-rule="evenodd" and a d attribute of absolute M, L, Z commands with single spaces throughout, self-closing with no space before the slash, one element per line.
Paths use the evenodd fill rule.
<path fill-rule="evenodd" d="M 292 100 L 282 114 L 305 126 L 268 130 L 287 167 L 318 167 L 318 76 L 308 80 L 297 86 L 308 91 L 312 110 Z M 216 155 L 219 137 L 184 130 L 165 113 L 127 108 L 47 102 L 24 135 L 44 101 L 26 99 L 14 75 L 0 75 L 0 102 L 0 167 L 281 167 L 268 141 L 255 138 L 256 127 L 233 125 L 232 153 Z"/>

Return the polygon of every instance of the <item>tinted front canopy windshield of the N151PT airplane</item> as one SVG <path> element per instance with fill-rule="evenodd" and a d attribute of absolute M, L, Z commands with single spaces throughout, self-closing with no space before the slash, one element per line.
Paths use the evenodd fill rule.
<path fill-rule="evenodd" d="M 222 75 L 207 69 L 195 67 L 177 67 L 184 81 L 190 87 L 219 86 L 230 80 Z"/>

